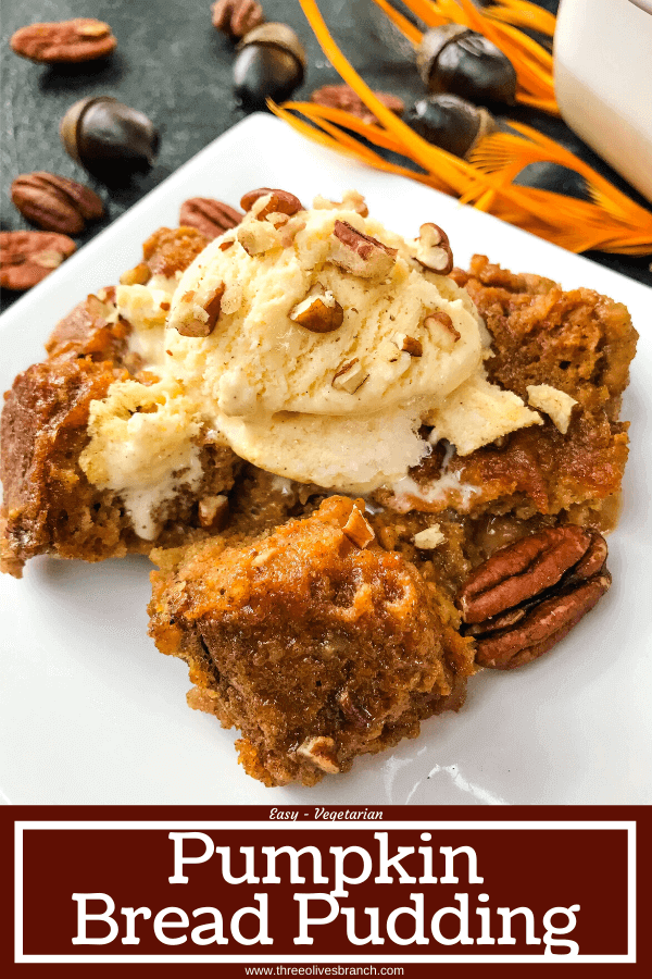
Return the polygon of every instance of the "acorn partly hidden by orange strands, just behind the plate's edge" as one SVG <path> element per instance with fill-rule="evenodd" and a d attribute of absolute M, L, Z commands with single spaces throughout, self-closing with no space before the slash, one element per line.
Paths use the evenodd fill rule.
<path fill-rule="evenodd" d="M 503 128 L 487 109 L 448 94 L 419 99 L 403 119 L 428 142 L 464 159 L 482 136 Z"/>

